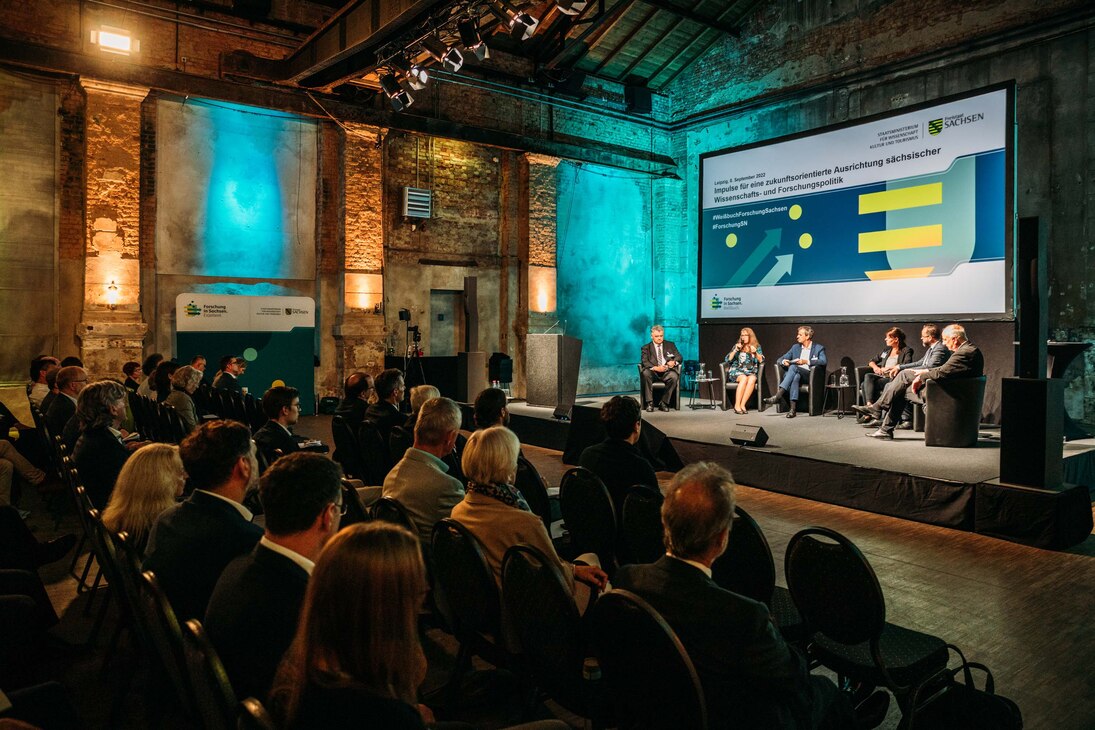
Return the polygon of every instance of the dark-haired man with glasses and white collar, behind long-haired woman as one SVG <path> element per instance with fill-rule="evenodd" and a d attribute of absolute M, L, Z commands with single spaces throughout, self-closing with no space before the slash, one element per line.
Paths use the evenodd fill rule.
<path fill-rule="evenodd" d="M 308 577 L 343 511 L 342 470 L 320 454 L 278 460 L 258 483 L 266 532 L 221 573 L 205 628 L 241 697 L 269 694 L 297 631 Z"/>

